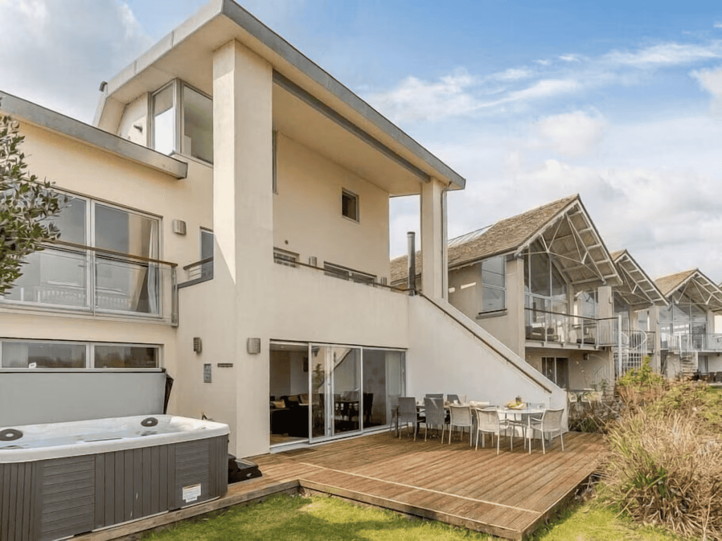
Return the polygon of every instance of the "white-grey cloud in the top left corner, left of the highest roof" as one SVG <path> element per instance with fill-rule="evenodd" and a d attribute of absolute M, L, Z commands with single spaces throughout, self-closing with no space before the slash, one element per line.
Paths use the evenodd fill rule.
<path fill-rule="evenodd" d="M 0 89 L 90 121 L 98 85 L 151 40 L 120 0 L 0 0 Z"/>

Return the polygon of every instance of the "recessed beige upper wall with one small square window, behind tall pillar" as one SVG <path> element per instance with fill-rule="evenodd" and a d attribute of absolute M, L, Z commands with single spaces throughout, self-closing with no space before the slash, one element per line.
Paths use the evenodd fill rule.
<path fill-rule="evenodd" d="M 302 263 L 313 255 L 320 267 L 328 261 L 388 278 L 388 192 L 283 133 L 277 136 L 277 186 L 275 247 L 299 254 Z M 359 197 L 359 221 L 342 216 L 344 189 Z"/>

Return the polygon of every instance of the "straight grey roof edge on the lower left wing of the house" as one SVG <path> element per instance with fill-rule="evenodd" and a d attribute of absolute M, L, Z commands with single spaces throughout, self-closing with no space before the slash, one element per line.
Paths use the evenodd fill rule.
<path fill-rule="evenodd" d="M 25 120 L 35 126 L 61 133 L 82 143 L 108 151 L 110 154 L 115 154 L 118 157 L 172 175 L 175 178 L 186 178 L 188 175 L 188 164 L 186 162 L 181 162 L 145 146 L 131 143 L 131 141 L 126 141 L 126 139 L 103 131 L 100 128 L 61 115 L 56 111 L 22 100 L 1 90 L 0 108 L 5 113 L 12 115 L 15 120 Z"/>

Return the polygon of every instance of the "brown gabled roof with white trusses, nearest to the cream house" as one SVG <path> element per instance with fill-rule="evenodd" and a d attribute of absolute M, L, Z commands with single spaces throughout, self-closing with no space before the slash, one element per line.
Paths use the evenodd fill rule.
<path fill-rule="evenodd" d="M 520 256 L 534 242 L 555 256 L 567 281 L 588 289 L 621 285 L 616 267 L 579 195 L 557 199 L 448 243 L 449 269 L 495 255 Z M 417 268 L 421 268 L 417 255 Z M 391 261 L 391 282 L 406 276 L 406 256 Z"/>

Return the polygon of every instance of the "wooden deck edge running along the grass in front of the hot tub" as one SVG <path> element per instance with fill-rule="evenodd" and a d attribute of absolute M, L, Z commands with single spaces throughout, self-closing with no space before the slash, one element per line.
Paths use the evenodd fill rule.
<path fill-rule="evenodd" d="M 81 534 L 71 537 L 71 541 L 123 541 L 123 540 L 137 540 L 139 535 L 145 532 L 151 532 L 156 529 L 164 529 L 178 522 L 183 522 L 191 519 L 198 519 L 206 514 L 211 514 L 216 511 L 224 511 L 238 505 L 245 503 L 251 503 L 255 501 L 263 501 L 269 496 L 276 494 L 297 494 L 300 491 L 300 483 L 298 480 L 285 481 L 283 483 L 276 483 L 274 485 L 267 485 L 263 488 L 257 488 L 253 491 L 248 491 L 240 494 L 233 494 L 221 498 L 216 498 L 212 501 L 200 503 L 196 506 L 186 507 L 179 509 L 178 511 L 169 511 L 155 516 L 150 516 L 147 519 L 138 519 L 133 522 L 126 522 L 124 524 L 118 524 L 118 526 L 100 529 L 95 532 L 89 532 L 87 534 Z"/>

